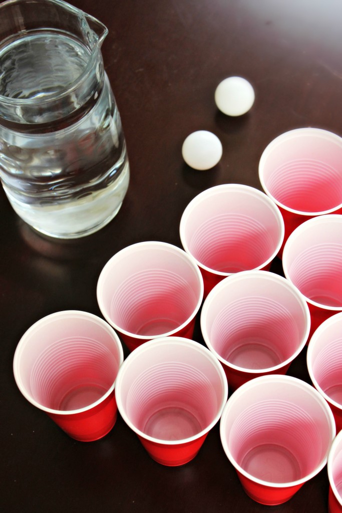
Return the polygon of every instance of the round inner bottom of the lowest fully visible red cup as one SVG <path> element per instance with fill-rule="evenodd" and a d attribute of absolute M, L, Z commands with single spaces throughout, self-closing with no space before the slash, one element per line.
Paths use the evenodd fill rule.
<path fill-rule="evenodd" d="M 277 444 L 254 447 L 245 455 L 241 466 L 251 476 L 269 483 L 289 483 L 301 477 L 292 452 Z"/>

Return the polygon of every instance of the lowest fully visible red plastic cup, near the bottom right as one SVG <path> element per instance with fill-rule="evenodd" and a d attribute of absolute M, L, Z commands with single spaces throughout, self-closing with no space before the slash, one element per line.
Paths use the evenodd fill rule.
<path fill-rule="evenodd" d="M 327 463 L 335 422 L 326 400 L 291 376 L 261 376 L 240 386 L 220 421 L 220 438 L 254 501 L 282 504 Z"/>

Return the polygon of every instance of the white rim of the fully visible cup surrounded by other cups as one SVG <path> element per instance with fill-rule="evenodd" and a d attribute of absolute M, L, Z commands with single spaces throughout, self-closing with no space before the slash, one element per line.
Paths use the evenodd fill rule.
<path fill-rule="evenodd" d="M 224 359 L 222 356 L 220 356 L 220 354 L 214 349 L 213 345 L 211 344 L 210 337 L 209 337 L 209 334 L 208 334 L 206 326 L 205 326 L 205 315 L 207 313 L 207 310 L 210 308 L 210 303 L 214 300 L 216 293 L 219 292 L 221 289 L 225 288 L 226 286 L 228 286 L 232 280 L 239 281 L 241 279 L 243 279 L 243 280 L 248 279 L 249 277 L 255 277 L 255 278 L 266 277 L 269 280 L 279 282 L 281 285 L 284 285 L 285 287 L 287 287 L 291 292 L 293 292 L 293 294 L 298 299 L 298 302 L 303 307 L 303 312 L 304 312 L 304 315 L 305 315 L 305 318 L 307 321 L 307 326 L 305 329 L 303 339 L 301 340 L 301 343 L 297 347 L 296 351 L 293 354 L 291 354 L 291 356 L 289 358 L 287 358 L 283 362 L 278 363 L 277 365 L 273 365 L 272 367 L 249 369 L 248 367 L 240 367 L 239 365 L 235 365 L 235 364 L 229 362 L 228 360 Z M 228 281 L 228 280 L 230 280 L 230 281 Z M 291 282 L 289 282 L 286 278 L 283 278 L 282 276 L 275 274 L 273 272 L 263 271 L 263 270 L 240 271 L 240 272 L 237 272 L 234 275 L 227 277 L 224 280 L 220 281 L 217 285 L 215 285 L 215 287 L 213 287 L 213 289 L 207 295 L 207 298 L 205 299 L 205 301 L 203 303 L 202 311 L 200 314 L 200 328 L 202 331 L 202 336 L 204 338 L 204 341 L 205 341 L 207 347 L 210 349 L 210 351 L 212 351 L 215 354 L 215 357 L 220 362 L 225 364 L 227 367 L 229 367 L 233 370 L 236 370 L 238 372 L 248 373 L 248 374 L 260 374 L 260 372 L 275 372 L 276 370 L 285 367 L 287 364 L 290 364 L 298 356 L 298 354 L 301 352 L 301 350 L 303 350 L 303 348 L 305 347 L 307 340 L 309 338 L 310 327 L 311 327 L 310 311 L 309 311 L 308 304 L 305 301 L 303 295 L 300 294 L 299 291 L 297 290 L 297 288 Z"/>

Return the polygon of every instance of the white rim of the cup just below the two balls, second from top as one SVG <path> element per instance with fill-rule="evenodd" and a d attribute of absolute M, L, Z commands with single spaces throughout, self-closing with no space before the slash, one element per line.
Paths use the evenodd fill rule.
<path fill-rule="evenodd" d="M 253 270 L 262 269 L 272 262 L 272 260 L 278 254 L 278 252 L 281 248 L 281 245 L 284 242 L 284 237 L 285 237 L 285 223 L 284 223 L 283 215 L 281 215 L 281 212 L 280 212 L 278 206 L 272 201 L 271 198 L 269 198 L 269 196 L 265 192 L 260 191 L 256 187 L 252 187 L 250 185 L 245 185 L 245 184 L 236 184 L 236 183 L 219 184 L 219 185 L 214 185 L 213 187 L 210 187 L 210 188 L 205 189 L 204 191 L 200 192 L 199 194 L 194 196 L 194 198 L 188 203 L 188 205 L 185 207 L 185 209 L 183 211 L 182 217 L 180 218 L 180 223 L 179 223 L 180 241 L 182 242 L 182 246 L 183 246 L 184 250 L 186 251 L 186 253 L 188 253 L 195 260 L 198 267 L 200 267 L 201 269 L 204 269 L 205 271 L 210 272 L 211 274 L 215 274 L 217 276 L 223 276 L 223 277 L 228 277 L 235 273 L 234 272 L 217 271 L 216 269 L 212 269 L 211 267 L 208 267 L 207 265 L 205 265 L 202 262 L 200 262 L 199 260 L 197 260 L 196 257 L 194 257 L 194 255 L 191 253 L 189 246 L 187 244 L 186 237 L 185 237 L 185 224 L 186 224 L 186 221 L 187 221 L 186 218 L 189 215 L 189 212 L 191 211 L 191 209 L 193 208 L 193 206 L 195 205 L 195 203 L 198 200 L 200 200 L 201 198 L 206 198 L 206 196 L 208 197 L 210 195 L 215 195 L 215 193 L 217 191 L 226 191 L 226 190 L 227 191 L 240 190 L 243 192 L 249 191 L 250 193 L 257 195 L 258 198 L 263 199 L 265 201 L 265 203 L 267 203 L 267 205 L 270 207 L 270 210 L 273 210 L 275 218 L 277 218 L 277 221 L 279 223 L 280 235 L 279 235 L 279 241 L 278 241 L 278 244 L 276 245 L 276 248 L 274 249 L 273 253 L 270 255 L 270 257 L 265 262 L 261 263 L 260 265 L 255 267 Z"/>

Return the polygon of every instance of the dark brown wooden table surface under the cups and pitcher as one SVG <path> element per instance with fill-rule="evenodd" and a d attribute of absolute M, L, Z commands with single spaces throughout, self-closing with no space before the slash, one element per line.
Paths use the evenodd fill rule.
<path fill-rule="evenodd" d="M 12 360 L 24 331 L 65 309 L 100 315 L 96 282 L 109 258 L 147 240 L 180 246 L 179 220 L 200 191 L 222 183 L 260 189 L 258 161 L 287 130 L 313 126 L 342 135 L 340 0 L 74 0 L 109 28 L 105 67 L 122 116 L 131 183 L 104 229 L 72 242 L 34 233 L 0 191 L 0 510 L 4 513 L 266 512 L 242 490 L 218 425 L 189 464 L 149 458 L 118 418 L 104 439 L 70 439 L 21 395 Z M 231 75 L 254 86 L 242 117 L 217 111 L 214 91 Z M 195 171 L 185 137 L 210 130 L 220 163 Z M 281 262 L 272 267 L 281 273 Z M 203 342 L 199 325 L 194 339 Z M 127 351 L 126 351 L 127 354 Z M 308 381 L 305 351 L 289 373 Z M 324 468 L 274 513 L 327 511 Z"/>

